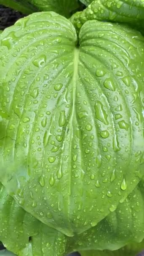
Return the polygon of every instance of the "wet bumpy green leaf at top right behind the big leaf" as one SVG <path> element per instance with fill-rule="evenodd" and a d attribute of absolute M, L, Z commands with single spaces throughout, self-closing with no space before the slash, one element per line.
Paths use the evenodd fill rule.
<path fill-rule="evenodd" d="M 144 30 L 144 2 L 141 0 L 89 0 L 88 8 L 77 12 L 71 21 L 77 30 L 88 20 L 118 21 Z"/>

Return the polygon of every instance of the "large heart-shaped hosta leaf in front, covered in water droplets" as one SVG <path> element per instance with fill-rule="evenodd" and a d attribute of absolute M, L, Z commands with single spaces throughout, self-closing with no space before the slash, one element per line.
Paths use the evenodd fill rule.
<path fill-rule="evenodd" d="M 32 14 L 0 35 L 0 67 L 0 180 L 66 235 L 95 226 L 143 175 L 144 37 Z"/>

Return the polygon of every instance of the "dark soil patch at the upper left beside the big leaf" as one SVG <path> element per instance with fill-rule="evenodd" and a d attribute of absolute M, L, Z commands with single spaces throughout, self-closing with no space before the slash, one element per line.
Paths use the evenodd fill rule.
<path fill-rule="evenodd" d="M 12 26 L 18 19 L 22 17 L 24 17 L 24 14 L 0 5 L 0 30 Z"/>

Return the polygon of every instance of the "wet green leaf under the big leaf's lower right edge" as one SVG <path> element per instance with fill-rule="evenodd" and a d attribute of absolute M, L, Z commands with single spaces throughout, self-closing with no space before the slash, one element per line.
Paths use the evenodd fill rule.
<path fill-rule="evenodd" d="M 139 243 L 143 239 L 144 183 L 140 183 L 125 201 L 120 203 L 117 209 L 99 222 L 96 227 L 88 229 L 70 240 L 70 248 L 81 251 L 82 255 L 88 255 L 88 253 L 91 255 L 89 251 L 83 254 L 85 250 L 117 250 L 114 253 L 109 252 L 108 255 L 127 255 L 123 254 L 124 250 L 127 250 L 130 255 L 133 251 L 135 256 L 136 252 L 140 251 Z M 130 243 L 131 247 L 135 243 L 137 247 L 133 246 L 132 250 L 128 245 Z M 128 245 L 128 248 L 122 248 L 125 245 Z M 103 253 L 99 252 L 98 255 L 102 256 Z M 107 255 L 106 252 L 104 255 Z"/>

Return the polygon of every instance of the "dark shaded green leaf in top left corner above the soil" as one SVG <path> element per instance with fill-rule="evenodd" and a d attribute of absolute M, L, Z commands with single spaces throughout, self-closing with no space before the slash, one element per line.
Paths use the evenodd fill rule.
<path fill-rule="evenodd" d="M 0 4 L 13 8 L 14 10 L 20 11 L 24 14 L 30 14 L 37 11 L 37 8 L 29 4 L 28 0 L 0 0 Z"/>

